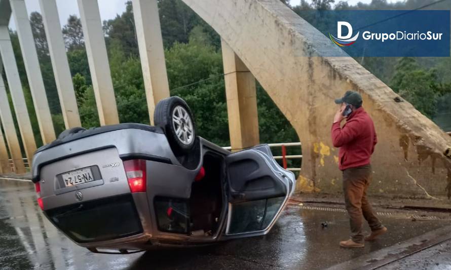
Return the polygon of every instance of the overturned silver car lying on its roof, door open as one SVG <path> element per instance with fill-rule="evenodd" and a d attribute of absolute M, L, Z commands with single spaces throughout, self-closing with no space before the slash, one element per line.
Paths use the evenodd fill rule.
<path fill-rule="evenodd" d="M 73 128 L 39 148 L 32 180 L 46 217 L 96 253 L 269 232 L 295 177 L 268 145 L 232 153 L 196 136 L 179 97 L 160 101 L 154 122 Z"/>

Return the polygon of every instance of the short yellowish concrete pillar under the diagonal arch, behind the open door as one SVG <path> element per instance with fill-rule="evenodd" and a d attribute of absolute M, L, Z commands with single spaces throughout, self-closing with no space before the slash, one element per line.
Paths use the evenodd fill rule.
<path fill-rule="evenodd" d="M 255 78 L 223 40 L 221 47 L 230 144 L 241 150 L 259 143 Z"/>

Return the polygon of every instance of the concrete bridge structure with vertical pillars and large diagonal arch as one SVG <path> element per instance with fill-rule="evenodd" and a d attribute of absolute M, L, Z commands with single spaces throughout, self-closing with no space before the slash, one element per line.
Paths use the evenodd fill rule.
<path fill-rule="evenodd" d="M 379 135 L 372 159 L 371 192 L 392 197 L 451 196 L 451 137 L 346 55 L 317 29 L 278 0 L 183 0 L 222 38 L 229 128 L 233 149 L 259 143 L 255 80 L 265 88 L 303 144 L 297 190 L 341 191 L 337 149 L 330 140 L 333 99 L 359 91 Z M 39 1 L 66 128 L 81 125 L 55 0 Z M 156 0 L 133 0 L 149 119 L 169 96 Z M 96 0 L 78 0 L 101 125 L 119 123 Z M 0 169 L 25 173 L 36 145 L 8 32 L 14 15 L 34 108 L 44 143 L 55 139 L 39 61 L 23 0 L 0 0 Z M 340 57 L 325 57 L 334 51 Z M 0 72 L 2 74 L 2 72 Z M 0 75 L 1 76 L 1 75 Z M 9 106 L 4 79 L 13 100 Z M 13 113 L 20 134 L 16 134 Z M 5 139 L 6 142 L 5 143 Z M 24 153 L 19 147 L 24 145 Z"/>

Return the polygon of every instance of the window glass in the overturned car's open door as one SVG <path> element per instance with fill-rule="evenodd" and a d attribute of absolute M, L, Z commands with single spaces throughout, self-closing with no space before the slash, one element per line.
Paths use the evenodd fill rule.
<path fill-rule="evenodd" d="M 285 197 L 276 197 L 231 205 L 228 234 L 264 230 L 273 221 Z"/>

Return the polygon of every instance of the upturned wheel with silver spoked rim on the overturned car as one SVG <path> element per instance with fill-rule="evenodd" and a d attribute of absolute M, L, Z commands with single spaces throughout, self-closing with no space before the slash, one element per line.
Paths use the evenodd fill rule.
<path fill-rule="evenodd" d="M 180 97 L 160 100 L 155 107 L 154 124 L 161 127 L 176 155 L 192 150 L 196 139 L 193 114 Z"/>

